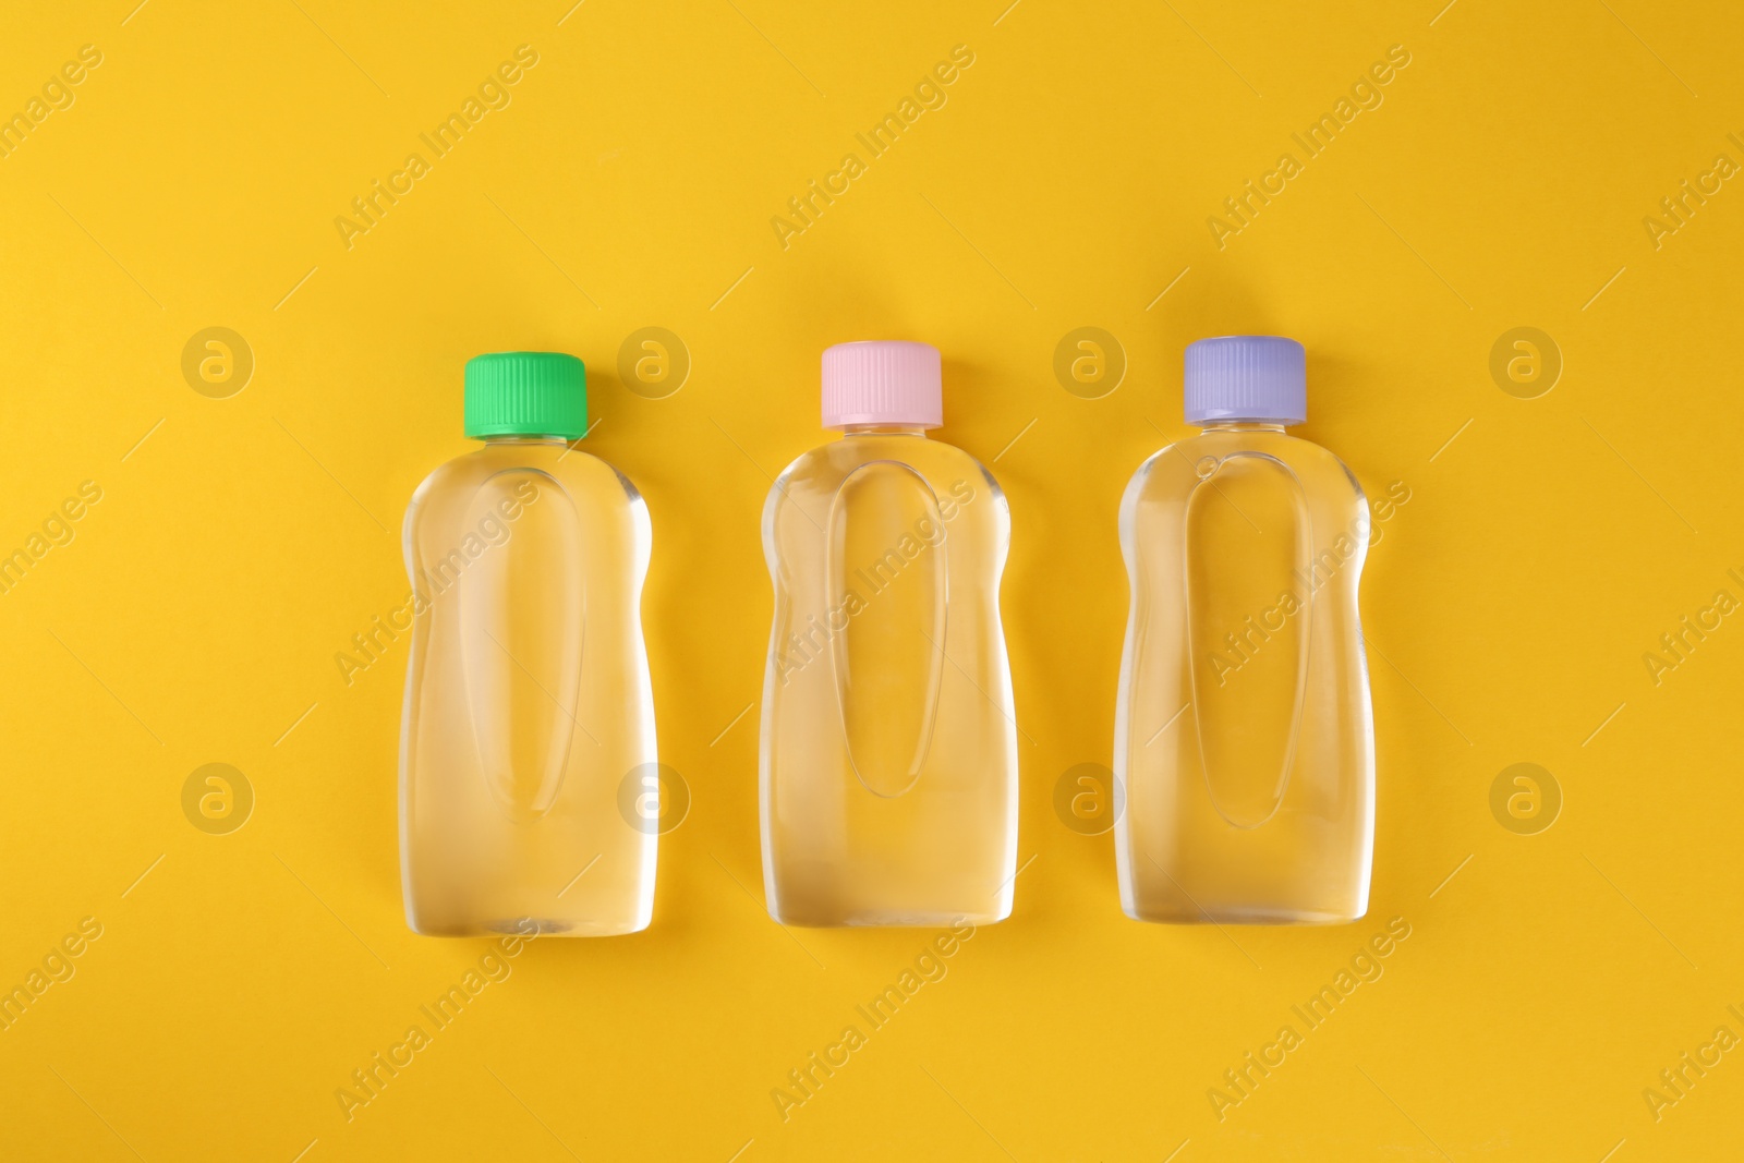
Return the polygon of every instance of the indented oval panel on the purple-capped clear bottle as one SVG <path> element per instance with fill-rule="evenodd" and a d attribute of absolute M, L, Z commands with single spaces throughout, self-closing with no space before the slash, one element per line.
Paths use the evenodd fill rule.
<path fill-rule="evenodd" d="M 1212 804 L 1256 828 L 1289 786 L 1308 689 L 1313 523 L 1275 457 L 1196 466 L 1184 518 L 1188 668 Z"/>

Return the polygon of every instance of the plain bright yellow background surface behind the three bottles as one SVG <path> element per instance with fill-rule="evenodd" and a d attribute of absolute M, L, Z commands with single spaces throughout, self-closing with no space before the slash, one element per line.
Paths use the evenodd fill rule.
<path fill-rule="evenodd" d="M 1006 2 L 14 5 L 0 112 L 84 44 L 103 65 L 0 159 L 0 551 L 80 481 L 103 500 L 0 596 L 0 985 L 82 917 L 103 936 L 0 1032 L 0 1158 L 1741 1151 L 1744 1051 L 1659 1121 L 1641 1092 L 1744 1034 L 1744 624 L 1659 685 L 1643 663 L 1744 598 L 1744 190 L 1657 249 L 1643 218 L 1744 162 L 1744 17 Z M 520 44 L 513 105 L 347 249 L 335 216 Z M 949 103 L 783 249 L 771 216 L 959 44 Z M 1385 103 L 1219 251 L 1223 199 L 1395 44 Z M 651 324 L 694 363 L 668 399 L 617 380 Z M 255 354 L 228 399 L 181 375 L 208 326 Z M 1102 399 L 1053 375 L 1080 326 L 1128 361 Z M 1489 373 L 1517 326 L 1564 361 L 1536 399 Z M 1303 340 L 1303 434 L 1411 492 L 1362 588 L 1380 809 L 1348 928 L 1130 922 L 1111 837 L 1052 807 L 1109 762 L 1120 490 L 1188 432 L 1184 343 L 1230 331 Z M 818 352 L 869 337 L 944 350 L 940 436 L 1010 495 L 1029 863 L 1012 919 L 783 1123 L 771 1088 L 928 936 L 766 917 L 739 717 L 769 476 L 825 438 Z M 333 656 L 405 598 L 405 502 L 469 448 L 462 363 L 518 347 L 586 359 L 588 446 L 647 497 L 661 757 L 694 804 L 647 933 L 535 942 L 347 1121 L 335 1090 L 485 943 L 405 928 L 403 649 L 351 687 Z M 208 762 L 256 795 L 228 835 L 181 811 Z M 1516 762 L 1564 795 L 1536 835 L 1491 816 Z M 1207 1090 L 1395 915 L 1385 976 L 1219 1121 Z"/>

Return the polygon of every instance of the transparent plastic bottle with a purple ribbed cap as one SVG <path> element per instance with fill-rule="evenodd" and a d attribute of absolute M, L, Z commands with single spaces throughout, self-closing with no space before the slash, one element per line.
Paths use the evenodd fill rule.
<path fill-rule="evenodd" d="M 1357 612 L 1362 486 L 1285 434 L 1301 343 L 1200 340 L 1186 418 L 1120 539 L 1132 579 L 1114 724 L 1120 898 L 1139 921 L 1338 924 L 1369 907 L 1374 725 Z"/>

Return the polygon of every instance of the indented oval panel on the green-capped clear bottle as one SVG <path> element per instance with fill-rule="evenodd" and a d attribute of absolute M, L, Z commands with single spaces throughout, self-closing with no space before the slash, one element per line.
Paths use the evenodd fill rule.
<path fill-rule="evenodd" d="M 511 469 L 480 486 L 459 541 L 445 558 L 457 579 L 436 602 L 460 603 L 480 774 L 513 818 L 535 820 L 556 800 L 577 732 L 586 624 L 581 523 L 556 479 Z M 433 574 L 439 567 L 431 563 Z"/>

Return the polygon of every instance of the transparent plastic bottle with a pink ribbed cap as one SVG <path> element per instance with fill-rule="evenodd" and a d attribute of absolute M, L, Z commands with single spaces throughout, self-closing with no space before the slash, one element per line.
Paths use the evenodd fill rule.
<path fill-rule="evenodd" d="M 1017 722 L 999 622 L 1012 518 L 942 424 L 926 343 L 823 354 L 823 425 L 764 506 L 769 914 L 807 926 L 1012 912 Z"/>

